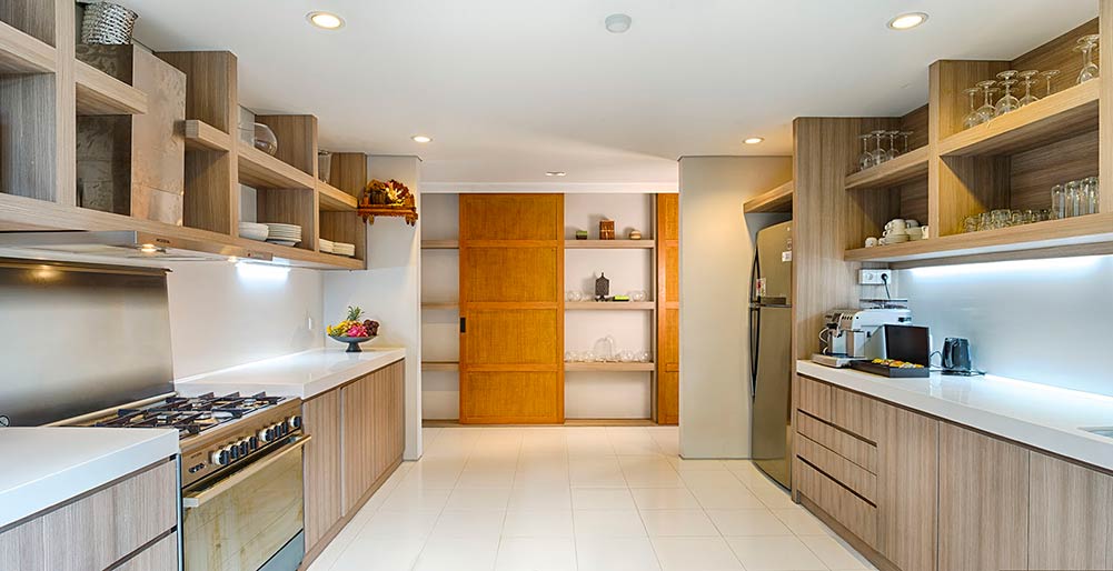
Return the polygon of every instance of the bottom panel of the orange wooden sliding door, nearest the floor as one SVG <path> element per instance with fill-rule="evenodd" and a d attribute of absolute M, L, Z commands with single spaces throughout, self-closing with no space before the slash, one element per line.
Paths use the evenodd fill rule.
<path fill-rule="evenodd" d="M 461 378 L 460 421 L 475 423 L 552 422 L 563 419 L 559 372 L 474 372 Z"/>

